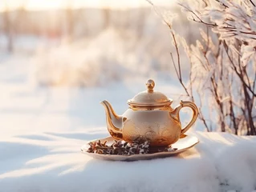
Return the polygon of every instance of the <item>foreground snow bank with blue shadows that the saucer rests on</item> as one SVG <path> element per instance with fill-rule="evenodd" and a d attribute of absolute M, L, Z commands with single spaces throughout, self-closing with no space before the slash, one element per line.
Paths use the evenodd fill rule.
<path fill-rule="evenodd" d="M 192 134 L 192 133 L 190 133 Z M 79 153 L 105 129 L 2 139 L 1 191 L 253 191 L 256 138 L 194 135 L 200 143 L 173 158 L 105 162 Z"/>

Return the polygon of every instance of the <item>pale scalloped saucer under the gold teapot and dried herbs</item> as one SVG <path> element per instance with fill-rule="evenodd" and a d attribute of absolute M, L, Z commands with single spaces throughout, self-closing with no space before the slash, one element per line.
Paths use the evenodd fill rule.
<path fill-rule="evenodd" d="M 99 138 L 92 140 L 91 142 L 99 141 L 101 143 L 106 142 L 108 145 L 111 145 L 112 142 L 114 142 L 114 138 L 108 137 L 108 138 Z M 173 143 L 173 145 L 169 146 L 172 148 L 177 148 L 177 150 L 174 151 L 165 151 L 165 152 L 156 152 L 153 154 L 132 154 L 132 155 L 118 155 L 118 154 L 94 154 L 94 153 L 88 153 L 87 149 L 89 148 L 89 145 L 83 145 L 81 147 L 81 151 L 83 154 L 87 154 L 91 156 L 92 158 L 102 159 L 102 160 L 108 160 L 108 161 L 137 161 L 137 160 L 147 160 L 147 159 L 153 159 L 153 158 L 167 158 L 170 156 L 174 156 L 177 154 L 180 154 L 181 152 L 188 150 L 189 148 L 197 145 L 199 142 L 198 138 L 195 136 L 190 136 L 183 134 L 181 138 Z"/>

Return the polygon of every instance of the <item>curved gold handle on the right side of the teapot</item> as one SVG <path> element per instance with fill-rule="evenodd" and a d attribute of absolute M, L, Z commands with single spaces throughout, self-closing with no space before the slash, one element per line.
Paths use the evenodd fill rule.
<path fill-rule="evenodd" d="M 182 134 L 185 134 L 185 132 L 187 130 L 189 130 L 189 128 L 191 126 L 193 126 L 193 123 L 197 120 L 197 116 L 198 116 L 198 109 L 197 109 L 197 106 L 196 104 L 194 104 L 193 102 L 190 102 L 190 101 L 182 101 L 181 100 L 181 105 L 177 106 L 173 112 L 171 113 L 173 118 L 177 119 L 178 122 L 180 122 L 180 115 L 179 115 L 179 112 L 181 110 L 181 108 L 183 107 L 189 107 L 192 109 L 193 111 L 193 117 L 191 119 L 191 121 L 189 122 L 188 125 L 186 125 L 183 129 L 181 129 L 181 135 Z"/>

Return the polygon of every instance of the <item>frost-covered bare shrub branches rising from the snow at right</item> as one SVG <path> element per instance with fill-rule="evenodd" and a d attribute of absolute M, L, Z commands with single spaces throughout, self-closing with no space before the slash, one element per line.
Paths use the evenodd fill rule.
<path fill-rule="evenodd" d="M 193 22 L 201 23 L 195 45 L 181 40 L 190 60 L 189 83 L 183 82 L 179 48 L 173 66 L 192 100 L 197 100 L 205 128 L 256 134 L 256 3 L 253 0 L 179 2 Z M 177 70 L 179 69 L 179 70 Z M 185 86 L 189 85 L 189 86 Z M 198 99 L 197 99 L 198 98 Z M 201 111 L 207 106 L 207 111 Z"/>

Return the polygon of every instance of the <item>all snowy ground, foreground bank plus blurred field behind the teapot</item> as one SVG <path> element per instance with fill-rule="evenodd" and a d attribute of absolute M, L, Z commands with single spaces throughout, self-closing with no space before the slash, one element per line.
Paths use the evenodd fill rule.
<path fill-rule="evenodd" d="M 28 61 L 14 55 L 0 64 L 1 192 L 256 190 L 256 138 L 201 132 L 198 123 L 189 134 L 200 143 L 177 157 L 106 162 L 81 154 L 80 146 L 108 136 L 99 102 L 108 99 L 121 114 L 146 79 L 40 87 Z M 180 88 L 163 79 L 156 87 L 178 103 Z"/>

